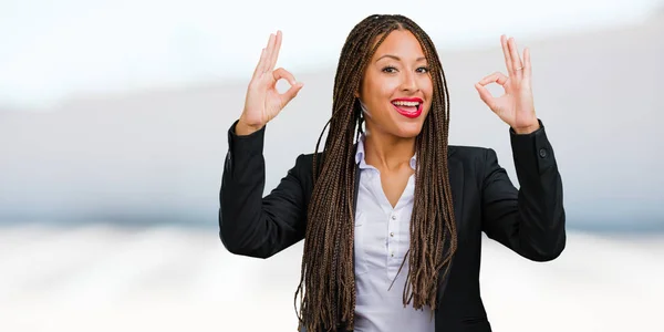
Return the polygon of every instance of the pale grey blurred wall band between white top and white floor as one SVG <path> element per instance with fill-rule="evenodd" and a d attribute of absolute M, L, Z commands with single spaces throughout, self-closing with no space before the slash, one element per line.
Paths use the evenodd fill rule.
<path fill-rule="evenodd" d="M 559 160 L 570 227 L 663 230 L 664 15 L 519 44 L 531 49 L 536 107 Z M 439 53 L 450 143 L 495 148 L 518 185 L 507 127 L 473 86 L 505 71 L 499 43 L 463 52 L 439 45 Z M 331 112 L 334 70 L 294 74 L 305 86 L 268 125 L 266 191 L 298 154 L 313 151 Z M 248 79 L 72 96 L 44 113 L 0 111 L 0 224 L 216 227 L 226 132 Z"/>

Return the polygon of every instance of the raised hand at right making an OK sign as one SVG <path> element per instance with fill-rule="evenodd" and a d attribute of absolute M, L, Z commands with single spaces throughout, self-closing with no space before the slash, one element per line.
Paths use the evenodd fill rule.
<path fill-rule="evenodd" d="M 535 114 L 532 102 L 530 50 L 523 51 L 523 61 L 519 55 L 517 43 L 513 38 L 500 37 L 505 64 L 508 75 L 496 72 L 484 77 L 475 84 L 479 97 L 500 117 L 511 126 L 517 134 L 529 134 L 539 128 L 539 122 Z M 490 83 L 498 83 L 505 89 L 505 94 L 495 97 L 486 89 Z"/>

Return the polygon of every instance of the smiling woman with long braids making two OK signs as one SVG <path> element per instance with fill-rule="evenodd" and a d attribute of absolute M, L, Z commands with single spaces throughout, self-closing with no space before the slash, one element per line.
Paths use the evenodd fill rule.
<path fill-rule="evenodd" d="M 302 89 L 273 70 L 281 32 L 270 35 L 228 132 L 219 227 L 229 251 L 250 257 L 304 239 L 301 330 L 490 331 L 481 232 L 535 261 L 561 253 L 562 183 L 535 114 L 529 52 L 501 43 L 508 74 L 476 89 L 509 125 L 519 190 L 492 149 L 447 145 L 448 92 L 428 35 L 405 17 L 371 15 L 342 49 L 323 152 L 319 137 L 262 197 L 266 124 Z M 501 97 L 486 90 L 494 82 Z"/>

